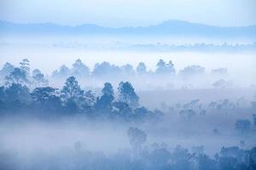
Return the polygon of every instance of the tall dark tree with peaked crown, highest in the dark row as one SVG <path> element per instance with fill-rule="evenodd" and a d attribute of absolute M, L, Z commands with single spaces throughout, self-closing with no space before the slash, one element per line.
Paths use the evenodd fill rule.
<path fill-rule="evenodd" d="M 68 77 L 64 87 L 61 89 L 61 98 L 64 101 L 68 99 L 79 99 L 84 94 L 84 91 L 80 88 L 79 82 L 75 77 Z"/>

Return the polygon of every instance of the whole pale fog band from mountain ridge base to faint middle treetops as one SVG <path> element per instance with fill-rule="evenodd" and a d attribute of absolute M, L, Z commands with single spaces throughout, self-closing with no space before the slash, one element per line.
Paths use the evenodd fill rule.
<path fill-rule="evenodd" d="M 188 65 L 202 65 L 208 72 L 216 68 L 227 68 L 232 75 L 244 80 L 253 79 L 256 75 L 254 67 L 255 50 L 236 47 L 231 50 L 212 49 L 205 51 L 200 46 L 189 49 L 197 43 L 223 45 L 253 44 L 252 39 L 243 38 L 207 38 L 207 37 L 128 37 L 128 36 L 11 36 L 3 35 L 0 45 L 0 65 L 7 60 L 17 65 L 20 59 L 29 59 L 32 69 L 38 68 L 50 75 L 55 68 L 65 64 L 72 66 L 75 59 L 81 59 L 85 65 L 93 70 L 96 63 L 108 61 L 113 65 L 131 64 L 134 67 L 143 61 L 148 71 L 155 70 L 159 59 L 172 60 L 177 70 Z M 178 49 L 162 51 L 160 48 L 131 48 L 134 45 L 147 44 L 177 45 Z M 188 45 L 188 49 L 181 48 Z M 255 49 L 255 48 L 254 48 Z M 236 51 L 236 53 L 234 52 Z M 207 58 L 207 59 L 206 59 Z M 54 61 L 54 62 L 53 62 Z M 242 64 L 241 64 L 242 63 Z M 46 66 L 47 65 L 47 66 Z"/>

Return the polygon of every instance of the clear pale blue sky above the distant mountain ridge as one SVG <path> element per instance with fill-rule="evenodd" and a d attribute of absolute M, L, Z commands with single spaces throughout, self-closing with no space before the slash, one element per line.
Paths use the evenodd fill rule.
<path fill-rule="evenodd" d="M 212 26 L 256 25 L 255 0 L 0 0 L 0 20 L 77 26 L 149 26 L 186 20 Z"/>

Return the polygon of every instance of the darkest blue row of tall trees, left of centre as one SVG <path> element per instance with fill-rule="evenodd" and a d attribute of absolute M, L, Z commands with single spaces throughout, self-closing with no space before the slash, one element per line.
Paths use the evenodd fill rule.
<path fill-rule="evenodd" d="M 75 77 L 68 77 L 61 89 L 34 88 L 13 81 L 0 87 L 0 111 L 4 114 L 32 113 L 39 116 L 84 114 L 88 117 L 119 117 L 143 120 L 159 117 L 160 111 L 148 111 L 139 105 L 139 97 L 130 82 L 119 82 L 118 96 L 113 86 L 106 82 L 102 94 L 84 91 Z"/>

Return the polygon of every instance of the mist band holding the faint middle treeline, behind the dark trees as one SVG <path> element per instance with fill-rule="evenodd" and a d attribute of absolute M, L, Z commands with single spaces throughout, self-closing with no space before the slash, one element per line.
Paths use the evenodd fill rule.
<path fill-rule="evenodd" d="M 133 56 L 133 58 L 135 57 Z M 207 61 L 212 60 L 212 63 L 208 64 L 206 59 L 201 59 L 203 57 L 197 57 L 199 61 L 204 60 L 203 63 L 194 62 L 192 65 L 186 65 L 190 62 L 178 57 L 174 59 L 179 62 L 174 63 L 165 57 L 165 59 L 154 59 L 155 62 L 151 65 L 144 62 L 131 65 L 124 61 L 122 61 L 123 65 L 115 65 L 103 60 L 101 63 L 95 63 L 94 66 L 88 66 L 81 59 L 76 59 L 70 61 L 72 64 L 69 65 L 71 66 L 62 63 L 59 68 L 51 67 L 51 63 L 44 59 L 40 62 L 41 66 L 39 67 L 49 65 L 47 68 L 43 68 L 43 70 L 49 70 L 46 73 L 40 71 L 41 69 L 34 66 L 34 63 L 30 65 L 28 59 L 23 59 L 18 65 L 9 62 L 3 64 L 0 71 L 3 81 L 0 84 L 8 85 L 15 82 L 26 84 L 28 88 L 47 85 L 60 88 L 67 77 L 76 77 L 83 88 L 95 90 L 96 93 L 105 82 L 110 82 L 113 88 L 117 88 L 119 82 L 124 81 L 131 82 L 137 91 L 203 88 L 247 88 L 253 90 L 255 88 L 256 82 L 253 77 L 256 76 L 256 70 L 253 66 L 253 55 L 230 56 L 230 59 L 233 59 L 230 61 L 222 59 L 224 56 L 214 57 L 212 55 L 212 58 L 207 59 Z M 191 58 L 193 57 L 191 56 Z M 222 60 L 219 65 L 217 64 L 218 59 Z M 38 60 L 34 60 L 34 62 L 38 65 Z M 154 65 L 153 69 L 151 69 L 152 65 Z M 27 67 L 27 74 L 22 72 L 24 69 L 22 67 Z"/>

